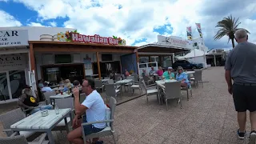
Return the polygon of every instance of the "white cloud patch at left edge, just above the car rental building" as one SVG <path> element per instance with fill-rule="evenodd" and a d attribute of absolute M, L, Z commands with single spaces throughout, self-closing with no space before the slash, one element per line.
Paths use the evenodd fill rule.
<path fill-rule="evenodd" d="M 0 10 L 0 26 L 22 26 L 22 23 L 18 22 L 12 15 Z"/>

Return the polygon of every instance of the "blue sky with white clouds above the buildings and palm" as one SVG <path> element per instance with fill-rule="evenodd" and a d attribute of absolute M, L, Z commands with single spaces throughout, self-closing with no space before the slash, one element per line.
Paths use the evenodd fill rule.
<path fill-rule="evenodd" d="M 200 22 L 206 46 L 211 49 L 231 46 L 227 38 L 214 41 L 213 37 L 216 23 L 233 14 L 240 18 L 241 27 L 250 30 L 250 40 L 256 42 L 256 2 L 250 0 L 226 0 L 211 5 L 210 0 L 80 1 L 0 0 L 0 26 L 70 27 L 83 34 L 117 35 L 125 38 L 128 45 L 141 46 L 157 42 L 158 34 L 186 38 L 186 26 L 192 26 L 197 38 L 194 23 Z M 230 7 L 235 9 L 226 8 L 229 2 L 233 2 Z"/>

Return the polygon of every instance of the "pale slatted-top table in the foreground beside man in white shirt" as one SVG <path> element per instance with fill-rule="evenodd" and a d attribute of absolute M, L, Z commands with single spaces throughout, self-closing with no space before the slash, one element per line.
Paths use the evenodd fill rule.
<path fill-rule="evenodd" d="M 68 123 L 66 117 L 71 118 L 71 109 L 60 109 L 59 114 L 55 114 L 54 110 L 48 110 L 46 117 L 42 117 L 41 110 L 32 114 L 10 126 L 10 130 L 13 131 L 34 131 L 44 132 L 49 138 L 50 144 L 54 144 L 54 137 L 51 130 L 58 125 L 62 119 L 65 120 L 66 130 L 69 132 Z"/>

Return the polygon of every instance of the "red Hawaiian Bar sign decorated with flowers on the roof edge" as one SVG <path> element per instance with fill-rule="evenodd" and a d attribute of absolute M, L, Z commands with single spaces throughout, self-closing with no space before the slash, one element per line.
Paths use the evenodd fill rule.
<path fill-rule="evenodd" d="M 118 37 L 101 37 L 98 34 L 95 35 L 84 35 L 79 34 L 75 30 L 74 32 L 66 31 L 65 34 L 58 33 L 59 41 L 66 42 L 84 42 L 84 43 L 96 43 L 96 44 L 106 44 L 106 45 L 126 45 L 126 40 Z"/>

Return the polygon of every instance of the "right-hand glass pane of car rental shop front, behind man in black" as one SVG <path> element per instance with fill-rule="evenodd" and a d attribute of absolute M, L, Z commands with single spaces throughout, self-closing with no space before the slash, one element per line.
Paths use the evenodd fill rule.
<path fill-rule="evenodd" d="M 22 95 L 22 90 L 26 86 L 26 77 L 24 70 L 9 71 L 10 91 L 12 98 L 19 98 Z"/>

